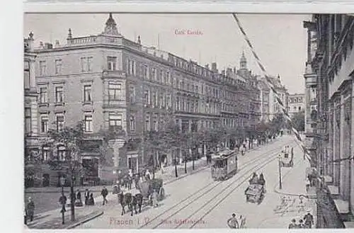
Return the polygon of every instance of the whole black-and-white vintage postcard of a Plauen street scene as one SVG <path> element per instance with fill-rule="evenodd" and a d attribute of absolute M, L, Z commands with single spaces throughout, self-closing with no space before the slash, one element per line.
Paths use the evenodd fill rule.
<path fill-rule="evenodd" d="M 354 227 L 354 16 L 25 13 L 27 229 Z"/>

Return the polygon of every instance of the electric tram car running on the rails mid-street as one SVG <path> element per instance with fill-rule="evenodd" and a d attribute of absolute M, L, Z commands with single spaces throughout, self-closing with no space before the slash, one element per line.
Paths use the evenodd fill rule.
<path fill-rule="evenodd" d="M 230 178 L 237 172 L 237 154 L 228 150 L 219 152 L 217 157 L 212 159 L 212 178 L 215 181 Z"/>

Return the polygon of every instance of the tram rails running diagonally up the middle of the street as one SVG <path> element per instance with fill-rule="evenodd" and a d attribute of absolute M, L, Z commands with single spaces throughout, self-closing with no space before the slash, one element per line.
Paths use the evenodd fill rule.
<path fill-rule="evenodd" d="M 206 186 L 198 189 L 198 191 L 195 191 L 194 193 L 188 195 L 186 198 L 184 198 L 183 200 L 179 201 L 178 203 L 176 203 L 175 205 L 173 205 L 171 208 L 164 210 L 163 212 L 161 212 L 159 215 L 157 215 L 156 217 L 154 217 L 152 220 L 149 220 L 149 222 L 146 222 L 144 225 L 140 226 L 139 229 L 142 229 L 143 227 L 147 227 L 149 225 L 153 225 L 151 228 L 152 229 L 156 229 L 157 227 L 164 225 L 164 221 L 171 219 L 171 217 L 177 215 L 179 212 L 181 212 L 182 210 L 184 210 L 185 208 L 188 208 L 192 203 L 194 203 L 196 200 L 200 200 L 200 198 L 202 198 L 203 196 L 211 193 L 213 190 L 215 190 L 215 188 L 217 188 L 218 186 L 224 184 L 226 187 L 222 188 L 222 191 L 219 191 L 213 198 L 209 198 L 209 200 L 207 201 L 207 203 L 205 203 L 205 205 L 207 205 L 208 203 L 210 203 L 212 200 L 215 199 L 215 197 L 217 197 L 218 195 L 220 195 L 221 193 L 224 193 L 225 191 L 227 191 L 227 189 L 229 188 L 229 186 L 232 186 L 234 183 L 238 182 L 241 178 L 244 178 L 244 176 L 246 176 L 247 174 L 249 174 L 250 171 L 254 171 L 254 169 L 257 169 L 257 171 L 259 169 L 261 169 L 263 166 L 266 166 L 267 164 L 269 164 L 271 161 L 273 161 L 274 159 L 270 159 L 271 157 L 274 157 L 275 154 L 278 154 L 278 150 L 279 147 L 282 147 L 285 144 L 292 144 L 294 143 L 294 140 L 289 140 L 284 144 L 280 144 L 277 146 L 277 148 L 275 149 L 270 149 L 266 152 L 263 152 L 262 154 L 254 157 L 253 159 L 249 159 L 248 161 L 246 161 L 244 164 L 242 164 L 243 166 L 240 167 L 240 169 L 238 169 L 237 173 L 233 176 L 239 176 L 238 178 L 236 178 L 236 180 L 231 181 L 230 179 L 228 179 L 227 181 L 229 181 L 229 183 L 227 183 L 227 181 L 217 181 L 217 183 L 215 183 L 215 181 L 212 181 L 210 183 L 207 183 Z M 275 152 L 276 151 L 276 152 Z M 271 154 L 270 154 L 271 153 Z M 270 154 L 268 156 L 264 156 L 265 154 Z M 270 160 L 269 160 L 270 159 Z M 275 158 L 276 159 L 276 158 Z M 251 164 L 254 164 L 255 161 L 261 161 L 260 163 L 256 163 L 255 166 L 252 166 Z M 251 166 L 251 168 L 249 168 L 249 166 Z M 249 168 L 249 169 L 248 169 Z M 247 169 L 246 171 L 244 171 L 245 169 Z M 241 173 L 240 173 L 241 171 Z M 249 177 L 247 176 L 246 180 L 248 180 Z M 244 181 L 242 182 L 244 183 Z M 213 186 L 211 186 L 212 184 L 214 184 Z M 211 187 L 210 187 L 211 186 Z M 239 186 L 241 186 L 241 184 L 239 184 Z M 236 189 L 236 188 L 235 188 Z M 205 191 L 206 190 L 206 191 Z M 196 197 L 195 197 L 196 196 Z M 178 208 L 179 206 L 181 206 L 181 208 Z M 204 205 L 202 205 L 202 208 L 204 207 Z M 174 210 L 175 208 L 178 208 L 176 211 L 174 211 L 172 214 L 168 215 L 167 217 L 163 217 L 166 213 L 171 212 L 171 210 Z M 197 210 L 198 212 L 199 210 Z M 195 213 L 197 213 L 195 212 Z M 195 214 L 194 213 L 194 214 Z M 194 215 L 193 214 L 193 215 Z M 193 215 L 191 215 L 190 217 L 192 217 Z M 163 219 L 161 221 L 161 218 Z M 188 219 L 188 218 L 187 218 Z M 150 227 L 149 227 L 150 228 Z M 178 228 L 178 227 L 176 227 Z"/>

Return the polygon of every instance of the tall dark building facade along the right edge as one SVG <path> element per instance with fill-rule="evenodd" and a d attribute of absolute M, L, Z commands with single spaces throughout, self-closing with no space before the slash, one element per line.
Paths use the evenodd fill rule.
<path fill-rule="evenodd" d="M 317 191 L 318 227 L 353 227 L 354 17 L 317 14 L 305 27 L 307 70 L 316 76 L 317 87 L 318 117 L 312 119 L 316 120 L 316 168 L 324 181 Z M 316 46 L 311 46 L 312 38 Z"/>

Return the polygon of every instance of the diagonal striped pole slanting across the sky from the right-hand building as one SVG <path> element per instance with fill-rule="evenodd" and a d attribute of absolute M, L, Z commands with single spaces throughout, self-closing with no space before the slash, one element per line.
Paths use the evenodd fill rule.
<path fill-rule="evenodd" d="M 309 153 L 309 150 L 306 148 L 304 142 L 302 141 L 301 136 L 299 135 L 299 132 L 295 129 L 294 127 L 294 123 L 292 123 L 292 120 L 290 118 L 290 115 L 287 113 L 287 109 L 284 106 L 284 103 L 282 103 L 282 100 L 280 99 L 279 93 L 278 91 L 275 90 L 275 86 L 273 84 L 273 82 L 270 79 L 270 75 L 266 72 L 265 67 L 263 66 L 261 59 L 258 57 L 256 50 L 254 49 L 253 45 L 251 44 L 251 40 L 249 40 L 248 35 L 246 34 L 246 31 L 244 30 L 244 28 L 241 25 L 241 22 L 239 21 L 239 18 L 237 18 L 236 13 L 232 13 L 232 16 L 234 16 L 234 20 L 236 21 L 239 30 L 241 31 L 242 35 L 244 35 L 244 40 L 246 40 L 247 45 L 249 45 L 249 48 L 251 49 L 252 55 L 253 57 L 256 59 L 256 62 L 258 64 L 258 67 L 261 69 L 261 71 L 263 72 L 263 75 L 265 76 L 266 79 L 266 84 L 268 84 L 269 88 L 273 91 L 273 93 L 275 94 L 275 98 L 278 102 L 278 104 L 280 105 L 281 109 L 282 109 L 282 114 L 285 116 L 285 118 L 288 120 L 288 122 L 291 125 L 291 130 L 292 132 L 294 132 L 295 137 L 297 138 L 297 142 L 300 145 L 300 147 L 302 147 L 302 150 L 304 151 L 305 157 L 309 160 L 312 161 L 311 155 Z M 316 169 L 314 168 L 314 171 L 316 171 Z M 317 179 L 319 181 L 321 181 L 321 179 L 319 178 L 319 173 L 318 171 L 316 171 L 317 174 Z"/>

